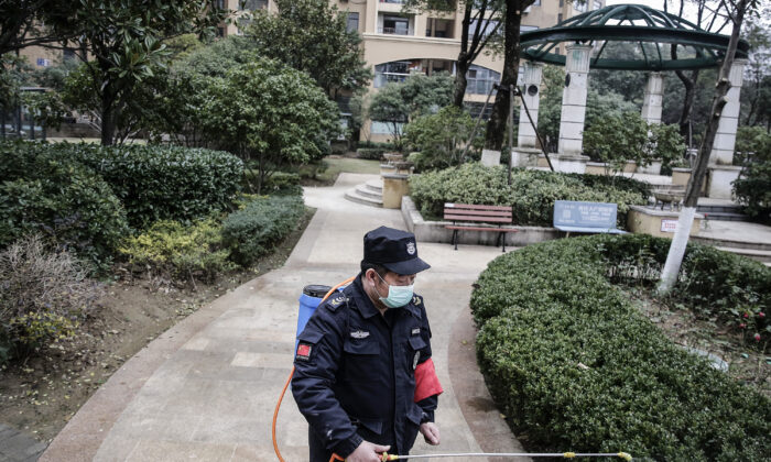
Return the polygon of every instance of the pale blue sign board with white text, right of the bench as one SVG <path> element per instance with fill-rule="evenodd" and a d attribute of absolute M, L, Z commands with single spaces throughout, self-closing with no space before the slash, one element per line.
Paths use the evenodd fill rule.
<path fill-rule="evenodd" d="M 618 206 L 607 202 L 579 202 L 556 200 L 554 202 L 554 228 L 571 232 L 626 234 L 616 229 Z"/>

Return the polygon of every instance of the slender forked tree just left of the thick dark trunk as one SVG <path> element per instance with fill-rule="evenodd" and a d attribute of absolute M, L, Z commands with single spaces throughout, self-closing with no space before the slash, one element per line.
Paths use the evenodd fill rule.
<path fill-rule="evenodd" d="M 498 44 L 501 40 L 501 19 L 506 10 L 503 0 L 458 0 L 464 16 L 460 29 L 460 52 L 456 62 L 455 88 L 453 105 L 463 108 L 468 69 L 482 51 L 491 52 L 488 45 Z M 419 9 L 422 11 L 450 12 L 455 11 L 456 2 L 448 0 L 409 0 L 404 10 Z"/>

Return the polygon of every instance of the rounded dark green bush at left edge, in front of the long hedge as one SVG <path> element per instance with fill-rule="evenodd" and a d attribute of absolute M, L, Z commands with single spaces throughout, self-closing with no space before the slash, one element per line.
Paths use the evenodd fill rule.
<path fill-rule="evenodd" d="M 101 177 L 52 147 L 0 143 L 0 248 L 37 232 L 104 265 L 128 232 L 123 207 Z"/>

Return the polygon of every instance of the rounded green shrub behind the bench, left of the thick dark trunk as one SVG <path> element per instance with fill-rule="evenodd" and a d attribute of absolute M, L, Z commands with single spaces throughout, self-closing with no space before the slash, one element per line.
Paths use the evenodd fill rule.
<path fill-rule="evenodd" d="M 461 158 L 466 145 L 471 141 L 473 130 L 471 117 L 454 106 L 410 122 L 404 129 L 404 136 L 412 147 L 420 151 L 420 156 L 412 157 L 415 169 L 425 172 L 459 165 L 468 158 L 478 161 L 482 134 L 473 140 L 467 158 Z"/>

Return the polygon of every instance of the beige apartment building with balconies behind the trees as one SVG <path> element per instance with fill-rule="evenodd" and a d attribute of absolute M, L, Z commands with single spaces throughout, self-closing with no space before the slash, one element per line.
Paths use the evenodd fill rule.
<path fill-rule="evenodd" d="M 454 12 L 405 12 L 404 0 L 332 0 L 332 4 L 348 12 L 348 29 L 362 36 L 363 57 L 372 67 L 374 78 L 370 91 L 391 81 L 403 81 L 412 73 L 432 75 L 455 74 L 455 61 L 460 52 L 463 8 Z M 522 18 L 522 32 L 551 28 L 563 19 L 602 8 L 605 0 L 587 0 L 577 4 L 566 0 L 536 0 Z M 222 0 L 222 6 L 239 12 L 267 8 L 274 9 L 271 0 Z M 236 20 L 221 24 L 220 34 L 239 34 Z M 471 24 L 473 28 L 476 24 Z M 500 80 L 502 56 L 480 54 L 468 72 L 466 101 L 473 114 L 478 114 L 493 84 Z M 345 112 L 346 97 L 340 107 Z M 489 111 L 489 109 L 488 109 Z M 371 141 L 387 141 L 392 136 L 389 124 L 367 122 L 360 135 Z"/>

